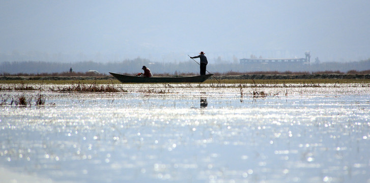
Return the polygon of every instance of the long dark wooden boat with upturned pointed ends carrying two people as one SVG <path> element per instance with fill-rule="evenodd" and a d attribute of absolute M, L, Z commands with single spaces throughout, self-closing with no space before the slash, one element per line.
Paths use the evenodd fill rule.
<path fill-rule="evenodd" d="M 201 76 L 141 77 L 141 76 L 130 76 L 130 75 L 124 75 L 124 74 L 111 73 L 111 72 L 109 73 L 123 83 L 203 82 L 213 75 L 213 74 L 207 74 L 207 75 L 201 75 Z"/>

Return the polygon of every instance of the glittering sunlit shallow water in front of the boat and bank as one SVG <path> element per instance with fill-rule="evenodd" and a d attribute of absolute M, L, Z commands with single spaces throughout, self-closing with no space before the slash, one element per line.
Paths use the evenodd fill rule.
<path fill-rule="evenodd" d="M 369 87 L 207 86 L 0 92 L 0 180 L 370 182 Z"/>

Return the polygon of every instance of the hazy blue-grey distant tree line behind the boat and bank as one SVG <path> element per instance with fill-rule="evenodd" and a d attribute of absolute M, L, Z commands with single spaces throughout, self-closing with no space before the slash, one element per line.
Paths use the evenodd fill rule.
<path fill-rule="evenodd" d="M 75 62 L 75 63 L 55 63 L 41 61 L 27 62 L 2 62 L 0 63 L 0 74 L 37 74 L 37 73 L 68 73 L 70 68 L 75 73 L 86 73 L 89 70 L 96 70 L 101 74 L 108 72 L 137 74 L 143 72 L 141 67 L 147 66 L 154 75 L 169 74 L 177 75 L 179 73 L 199 73 L 199 66 L 193 60 L 187 60 L 179 63 L 152 63 L 149 59 L 135 58 L 126 59 L 122 62 L 98 63 L 98 62 Z M 251 72 L 340 72 L 366 71 L 370 70 L 370 59 L 358 62 L 347 63 L 248 63 L 240 65 L 239 63 L 210 63 L 207 70 L 211 73 L 251 73 Z"/>

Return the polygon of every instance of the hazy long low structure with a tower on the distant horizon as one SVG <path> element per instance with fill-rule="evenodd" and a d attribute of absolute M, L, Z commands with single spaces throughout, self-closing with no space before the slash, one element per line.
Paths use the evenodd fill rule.
<path fill-rule="evenodd" d="M 302 63 L 302 64 L 309 64 L 309 59 L 311 55 L 309 51 L 304 53 L 306 55 L 305 58 L 242 58 L 240 59 L 241 65 L 247 64 L 268 64 L 268 63 Z"/>

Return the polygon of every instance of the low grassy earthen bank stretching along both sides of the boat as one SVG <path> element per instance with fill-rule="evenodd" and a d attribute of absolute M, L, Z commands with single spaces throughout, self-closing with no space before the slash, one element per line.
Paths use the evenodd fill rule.
<path fill-rule="evenodd" d="M 261 79 L 261 80 L 290 80 L 290 79 L 370 79 L 370 74 L 244 74 L 244 75 L 227 75 L 214 76 L 217 79 Z M 113 76 L 0 76 L 0 80 L 113 80 Z M 210 78 L 211 79 L 211 78 Z"/>

